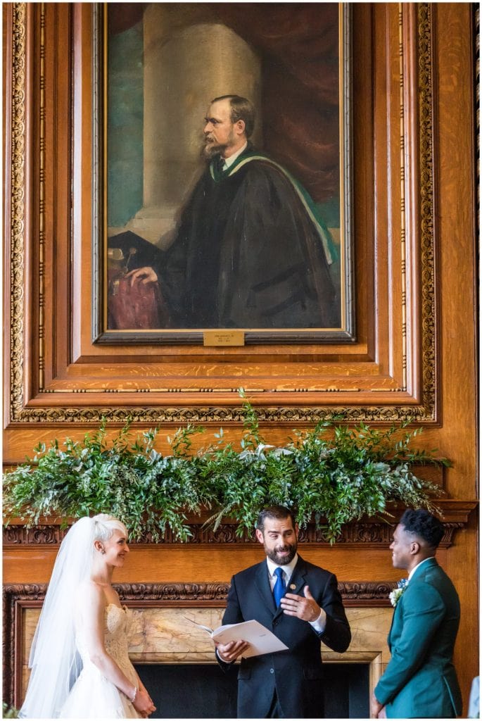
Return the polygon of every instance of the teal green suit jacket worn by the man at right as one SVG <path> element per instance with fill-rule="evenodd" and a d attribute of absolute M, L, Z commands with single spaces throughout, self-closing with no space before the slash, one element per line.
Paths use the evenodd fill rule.
<path fill-rule="evenodd" d="M 393 612 L 391 660 L 375 687 L 388 718 L 453 718 L 462 699 L 452 655 L 460 603 L 434 558 L 419 566 Z"/>

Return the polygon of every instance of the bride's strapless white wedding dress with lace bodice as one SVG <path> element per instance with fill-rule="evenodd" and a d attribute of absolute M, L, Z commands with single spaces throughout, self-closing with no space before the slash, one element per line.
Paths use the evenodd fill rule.
<path fill-rule="evenodd" d="M 129 681 L 137 686 L 135 670 L 130 663 L 129 649 L 130 611 L 110 603 L 105 609 L 104 642 L 107 653 L 115 660 Z M 140 718 L 127 696 L 117 689 L 92 663 L 86 650 L 82 629 L 76 634 L 76 645 L 83 668 L 63 705 L 61 718 Z"/>

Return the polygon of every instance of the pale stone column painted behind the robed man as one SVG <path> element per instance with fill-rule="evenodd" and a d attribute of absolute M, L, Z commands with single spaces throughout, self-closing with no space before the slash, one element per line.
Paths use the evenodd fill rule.
<path fill-rule="evenodd" d="M 172 32 L 163 4 L 144 16 L 143 208 L 125 229 L 159 247 L 171 239 L 177 213 L 203 165 L 202 130 L 210 100 L 249 97 L 260 107 L 261 63 L 225 25 Z M 260 118 L 256 136 L 260 137 Z"/>

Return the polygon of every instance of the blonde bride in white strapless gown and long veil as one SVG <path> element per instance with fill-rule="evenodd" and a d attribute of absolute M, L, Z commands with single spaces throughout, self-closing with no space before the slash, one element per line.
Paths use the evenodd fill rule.
<path fill-rule="evenodd" d="M 112 588 L 128 532 L 117 518 L 81 518 L 63 539 L 30 651 L 20 717 L 146 718 L 154 707 L 128 656 L 129 611 Z"/>

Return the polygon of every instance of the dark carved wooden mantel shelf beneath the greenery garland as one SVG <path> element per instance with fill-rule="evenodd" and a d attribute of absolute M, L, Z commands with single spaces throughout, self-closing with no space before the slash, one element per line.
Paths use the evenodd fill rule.
<path fill-rule="evenodd" d="M 477 508 L 478 501 L 447 499 L 438 500 L 437 504 L 442 510 L 445 526 L 445 536 L 440 547 L 447 548 L 452 544 L 454 532 L 468 523 L 470 513 Z M 242 536 L 238 536 L 236 534 L 238 523 L 230 518 L 226 518 L 216 531 L 213 531 L 212 528 L 205 528 L 204 523 L 210 513 L 212 511 L 205 510 L 199 516 L 187 515 L 187 522 L 192 536 L 185 543 L 179 543 L 168 529 L 164 538 L 160 541 L 153 541 L 151 536 L 146 534 L 146 537 L 135 545 L 136 547 L 149 547 L 153 544 L 159 544 L 160 546 L 169 544 L 182 547 L 198 547 L 204 544 L 210 546 L 229 544 L 231 547 L 246 547 L 249 544 L 256 544 L 254 535 L 247 533 L 247 531 L 244 531 Z M 394 523 L 401 514 L 401 508 L 392 505 L 390 506 L 390 513 L 393 514 Z M 393 523 L 390 522 L 390 518 L 387 521 L 380 518 L 362 518 L 360 521 L 347 523 L 343 526 L 339 538 L 336 539 L 336 545 L 343 548 L 362 547 L 366 549 L 389 544 L 393 533 Z M 22 518 L 11 518 L 8 526 L 3 528 L 3 544 L 4 548 L 19 546 L 53 547 L 60 544 L 66 532 L 66 528 L 61 528 L 60 518 L 43 518 L 40 523 L 30 528 L 27 527 Z M 323 536 L 323 530 L 317 529 L 314 523 L 308 523 L 306 528 L 300 529 L 299 542 L 303 545 L 328 545 L 328 541 Z"/>

